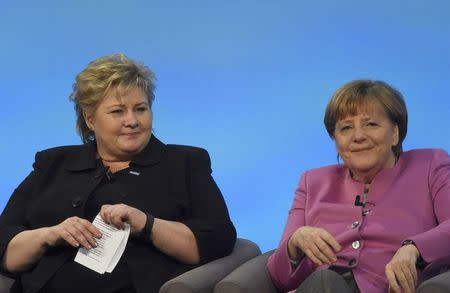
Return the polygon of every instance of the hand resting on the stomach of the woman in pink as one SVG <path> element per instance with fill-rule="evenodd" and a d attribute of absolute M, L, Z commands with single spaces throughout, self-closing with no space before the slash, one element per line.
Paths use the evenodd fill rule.
<path fill-rule="evenodd" d="M 300 259 L 304 253 L 318 266 L 336 262 L 336 253 L 341 249 L 341 245 L 328 231 L 310 226 L 298 228 L 288 241 L 292 260 Z"/>

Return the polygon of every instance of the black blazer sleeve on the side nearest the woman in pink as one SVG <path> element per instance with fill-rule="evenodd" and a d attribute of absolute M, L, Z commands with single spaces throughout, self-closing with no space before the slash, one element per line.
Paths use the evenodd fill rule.
<path fill-rule="evenodd" d="M 188 160 L 188 189 L 191 215 L 183 223 L 197 240 L 200 262 L 224 257 L 236 242 L 236 230 L 217 184 L 211 176 L 211 161 L 206 150 L 191 149 Z"/>

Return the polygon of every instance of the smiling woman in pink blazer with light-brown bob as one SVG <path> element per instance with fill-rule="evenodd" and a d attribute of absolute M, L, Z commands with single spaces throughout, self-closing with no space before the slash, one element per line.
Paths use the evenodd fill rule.
<path fill-rule="evenodd" d="M 324 123 L 343 164 L 306 171 L 268 269 L 280 291 L 415 292 L 450 256 L 450 157 L 402 151 L 407 110 L 381 81 L 336 91 Z"/>

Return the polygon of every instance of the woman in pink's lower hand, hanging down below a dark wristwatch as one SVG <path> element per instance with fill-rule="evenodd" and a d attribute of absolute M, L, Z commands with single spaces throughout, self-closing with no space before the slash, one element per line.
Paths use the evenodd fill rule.
<path fill-rule="evenodd" d="M 400 247 L 385 267 L 389 291 L 414 293 L 417 285 L 416 261 L 420 253 L 414 245 Z"/>

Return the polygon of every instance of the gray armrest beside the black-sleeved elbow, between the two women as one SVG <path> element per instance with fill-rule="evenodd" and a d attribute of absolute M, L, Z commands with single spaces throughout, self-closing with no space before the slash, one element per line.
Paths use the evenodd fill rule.
<path fill-rule="evenodd" d="M 255 243 L 237 239 L 233 252 L 167 281 L 159 293 L 211 293 L 232 270 L 261 254 Z"/>

